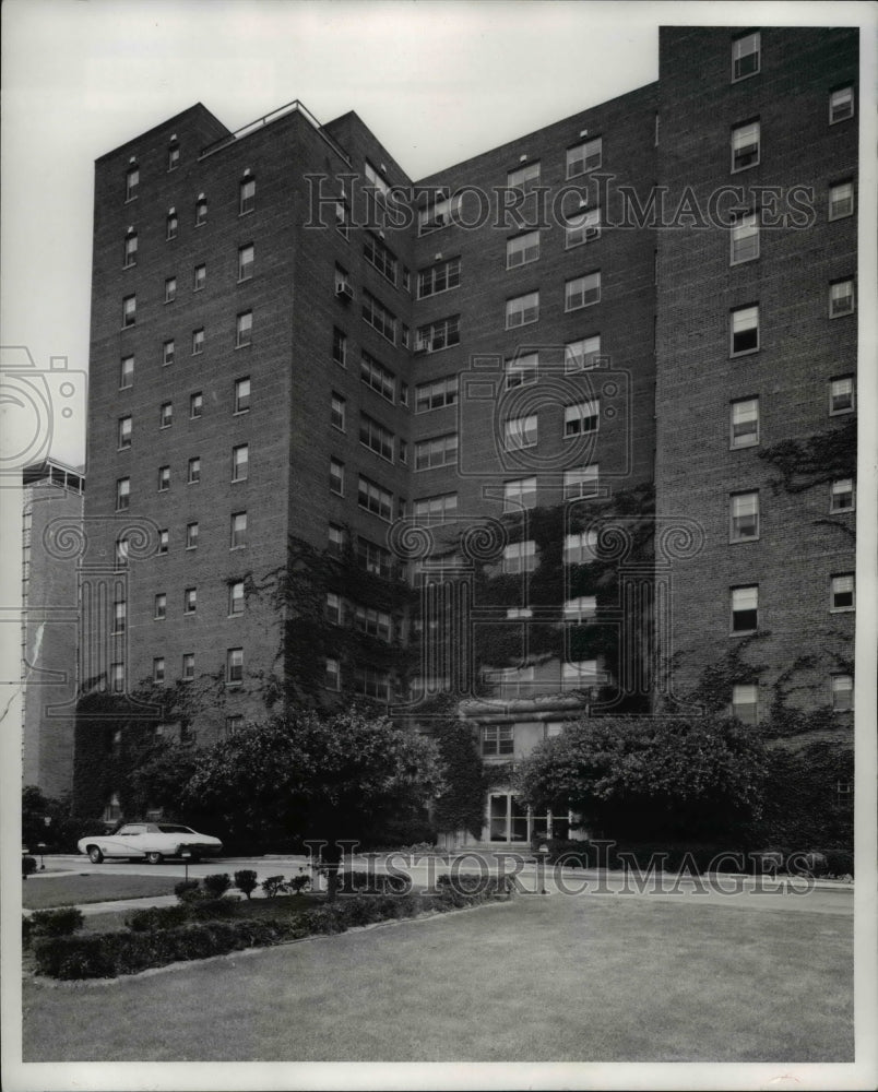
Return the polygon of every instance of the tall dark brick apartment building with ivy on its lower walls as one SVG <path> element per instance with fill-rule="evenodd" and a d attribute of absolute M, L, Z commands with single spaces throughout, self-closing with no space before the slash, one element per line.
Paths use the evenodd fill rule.
<path fill-rule="evenodd" d="M 663 28 L 656 83 L 418 182 L 299 104 L 103 156 L 93 689 L 205 743 L 450 689 L 506 765 L 724 664 L 850 731 L 856 34 Z"/>

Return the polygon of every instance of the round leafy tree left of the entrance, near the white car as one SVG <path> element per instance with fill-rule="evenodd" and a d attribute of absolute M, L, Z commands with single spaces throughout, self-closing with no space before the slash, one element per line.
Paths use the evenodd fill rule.
<path fill-rule="evenodd" d="M 361 842 L 392 817 L 423 812 L 441 788 L 432 740 L 354 708 L 299 710 L 200 752 L 183 804 L 216 814 L 239 841 Z"/>

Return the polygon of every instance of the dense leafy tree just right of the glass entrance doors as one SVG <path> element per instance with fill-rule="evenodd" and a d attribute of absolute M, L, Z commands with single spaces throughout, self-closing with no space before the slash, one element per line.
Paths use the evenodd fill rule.
<path fill-rule="evenodd" d="M 541 744 L 519 770 L 519 793 L 606 836 L 707 841 L 749 828 L 763 767 L 761 743 L 735 721 L 598 717 Z"/>

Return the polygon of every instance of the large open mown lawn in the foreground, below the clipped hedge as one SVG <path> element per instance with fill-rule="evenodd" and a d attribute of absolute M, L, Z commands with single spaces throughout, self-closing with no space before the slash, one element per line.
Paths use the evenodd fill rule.
<path fill-rule="evenodd" d="M 847 914 L 519 898 L 99 987 L 25 981 L 24 1057 L 850 1061 L 852 976 Z"/>

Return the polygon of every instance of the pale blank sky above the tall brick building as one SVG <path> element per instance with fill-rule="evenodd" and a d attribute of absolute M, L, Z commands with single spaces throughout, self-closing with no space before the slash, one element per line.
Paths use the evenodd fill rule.
<path fill-rule="evenodd" d="M 828 24 L 844 7 L 750 3 L 747 17 Z M 67 358 L 80 393 L 68 419 L 55 414 L 52 456 L 84 455 L 93 173 L 105 152 L 195 102 L 234 130 L 298 98 L 323 122 L 356 110 L 423 178 L 657 79 L 660 22 L 734 24 L 738 13 L 582 0 L 7 0 L 0 329 L 38 370 Z"/>

